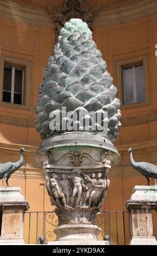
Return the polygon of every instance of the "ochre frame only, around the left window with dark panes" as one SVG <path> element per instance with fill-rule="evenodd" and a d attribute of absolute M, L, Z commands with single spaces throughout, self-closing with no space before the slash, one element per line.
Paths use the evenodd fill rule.
<path fill-rule="evenodd" d="M 9 108 L 31 108 L 31 62 L 23 59 L 15 59 L 10 57 L 1 56 L 0 58 L 0 106 Z M 11 66 L 18 66 L 24 68 L 23 73 L 23 105 L 3 101 L 3 78 L 5 63 Z"/>

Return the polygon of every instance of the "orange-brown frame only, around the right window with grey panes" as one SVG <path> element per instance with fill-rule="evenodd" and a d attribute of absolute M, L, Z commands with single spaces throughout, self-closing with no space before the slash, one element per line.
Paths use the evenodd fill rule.
<path fill-rule="evenodd" d="M 131 66 L 138 66 L 143 63 L 143 77 L 145 81 L 145 101 L 135 102 L 131 104 L 125 104 L 124 96 L 124 81 L 123 81 L 123 68 L 129 68 Z M 151 95 L 149 88 L 149 62 L 148 55 L 136 57 L 136 58 L 127 58 L 122 60 L 117 60 L 115 62 L 116 69 L 116 86 L 117 86 L 117 97 L 121 100 L 121 109 L 131 109 L 138 108 L 143 106 L 151 105 Z"/>

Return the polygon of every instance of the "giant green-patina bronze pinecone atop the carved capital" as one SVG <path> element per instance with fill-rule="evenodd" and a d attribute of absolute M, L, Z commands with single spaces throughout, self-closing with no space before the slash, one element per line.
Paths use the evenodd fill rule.
<path fill-rule="evenodd" d="M 35 107 L 36 130 L 42 139 L 69 132 L 64 129 L 52 131 L 49 127 L 50 113 L 58 114 L 65 107 L 66 114 L 69 111 L 74 114 L 80 111 L 108 113 L 105 137 L 114 142 L 121 127 L 120 100 L 115 97 L 117 88 L 106 68 L 106 62 L 97 50 L 87 23 L 80 19 L 67 22 L 61 29 L 53 56 L 50 56 L 45 67 Z M 89 115 L 84 120 L 86 118 Z M 59 122 L 62 123 L 62 120 L 61 117 Z M 87 129 L 90 127 L 82 126 L 80 120 L 73 117 L 68 120 L 77 123 L 77 131 L 99 133 L 97 124 L 95 130 L 90 131 Z"/>

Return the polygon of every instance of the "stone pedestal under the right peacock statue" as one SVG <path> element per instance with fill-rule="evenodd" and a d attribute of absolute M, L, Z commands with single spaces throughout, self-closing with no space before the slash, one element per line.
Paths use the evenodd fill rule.
<path fill-rule="evenodd" d="M 157 245 L 152 222 L 152 210 L 157 210 L 157 186 L 135 186 L 125 208 L 130 212 L 130 245 Z"/>

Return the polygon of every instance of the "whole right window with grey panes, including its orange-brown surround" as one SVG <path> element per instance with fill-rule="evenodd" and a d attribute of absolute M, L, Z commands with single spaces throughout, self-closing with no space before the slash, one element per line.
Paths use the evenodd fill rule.
<path fill-rule="evenodd" d="M 143 51 L 138 54 L 114 57 L 114 83 L 117 86 L 117 97 L 121 100 L 121 109 L 151 105 L 149 52 L 146 50 L 145 54 Z"/>

